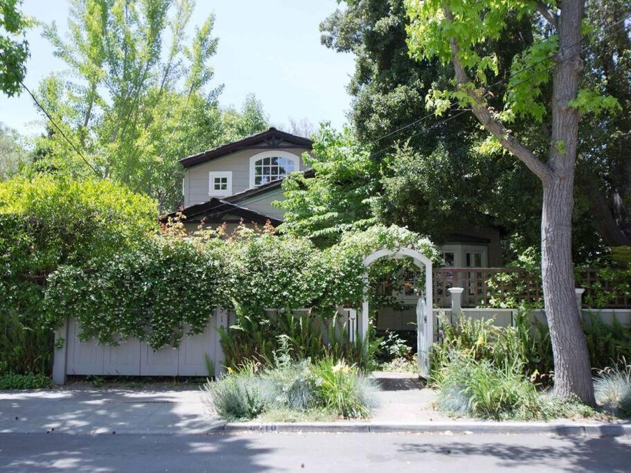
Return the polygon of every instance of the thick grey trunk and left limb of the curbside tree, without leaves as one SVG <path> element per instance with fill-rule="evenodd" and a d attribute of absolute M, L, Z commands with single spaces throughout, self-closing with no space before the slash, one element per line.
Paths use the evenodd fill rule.
<path fill-rule="evenodd" d="M 574 207 L 574 169 L 578 141 L 578 110 L 569 106 L 578 94 L 580 59 L 580 22 L 583 0 L 563 0 L 560 15 L 552 15 L 558 31 L 559 53 L 553 73 L 552 134 L 549 159 L 543 163 L 493 116 L 483 89 L 471 83 L 459 59 L 459 45 L 451 40 L 456 82 L 473 99 L 472 112 L 486 129 L 497 136 L 506 150 L 519 158 L 543 184 L 541 258 L 544 307 L 554 355 L 554 389 L 563 398 L 576 397 L 594 405 L 594 386 L 589 366 L 585 334 L 574 293 L 572 264 L 572 208 Z M 448 6 L 445 18 L 453 21 Z"/>

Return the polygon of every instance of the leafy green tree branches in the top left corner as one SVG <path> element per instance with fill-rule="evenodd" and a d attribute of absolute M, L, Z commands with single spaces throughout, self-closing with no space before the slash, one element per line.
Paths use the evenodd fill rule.
<path fill-rule="evenodd" d="M 24 38 L 31 21 L 18 9 L 21 0 L 0 0 L 0 90 L 9 97 L 19 93 L 26 75 L 28 42 Z"/>

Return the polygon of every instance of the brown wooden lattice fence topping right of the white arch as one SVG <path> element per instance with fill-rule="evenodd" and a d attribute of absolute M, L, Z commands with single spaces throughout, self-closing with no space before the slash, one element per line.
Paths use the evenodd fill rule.
<path fill-rule="evenodd" d="M 576 271 L 577 287 L 583 287 L 585 307 L 631 307 L 628 280 L 603 278 L 601 269 Z M 433 275 L 434 303 L 438 307 L 451 304 L 450 287 L 463 287 L 463 307 L 483 307 L 491 300 L 517 306 L 522 301 L 540 301 L 543 297 L 538 271 L 522 268 L 436 268 Z"/>

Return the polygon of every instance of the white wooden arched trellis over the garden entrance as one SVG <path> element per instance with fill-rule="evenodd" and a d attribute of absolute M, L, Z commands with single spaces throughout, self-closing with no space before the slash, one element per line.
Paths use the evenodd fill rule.
<path fill-rule="evenodd" d="M 434 341 L 434 312 L 432 311 L 432 260 L 415 249 L 383 248 L 364 258 L 364 287 L 368 290 L 368 267 L 380 258 L 412 258 L 420 269 L 425 268 L 425 294 L 418 298 L 416 305 L 416 346 L 418 349 L 418 374 L 429 377 L 429 350 Z M 359 337 L 368 339 L 368 294 L 364 294 L 362 313 L 357 323 Z"/>

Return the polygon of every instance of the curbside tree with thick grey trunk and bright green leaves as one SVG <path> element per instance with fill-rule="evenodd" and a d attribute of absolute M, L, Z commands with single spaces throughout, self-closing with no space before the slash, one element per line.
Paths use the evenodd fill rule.
<path fill-rule="evenodd" d="M 555 392 L 594 404 L 594 388 L 585 336 L 574 296 L 571 257 L 571 217 L 574 206 L 574 170 L 581 113 L 614 107 L 615 101 L 594 89 L 579 91 L 584 1 L 564 0 L 559 8 L 541 2 L 459 0 L 408 1 L 411 17 L 409 48 L 420 59 L 438 57 L 454 67 L 455 91 L 434 91 L 438 111 L 458 100 L 490 132 L 490 143 L 517 157 L 540 179 L 542 197 L 542 283 L 546 318 L 555 364 Z M 497 75 L 497 57 L 483 45 L 499 37 L 511 13 L 541 25 L 531 46 L 516 55 L 504 96 L 504 109 L 495 111 L 486 100 L 488 78 Z M 539 17 L 535 15 L 538 13 Z M 549 103 L 542 88 L 552 73 Z M 550 116 L 546 161 L 519 139 L 511 122 L 516 116 L 543 121 Z M 510 129 L 508 128 L 510 127 Z"/>

